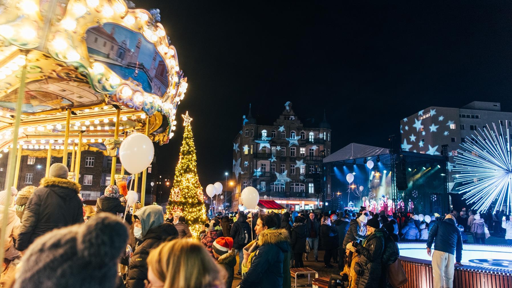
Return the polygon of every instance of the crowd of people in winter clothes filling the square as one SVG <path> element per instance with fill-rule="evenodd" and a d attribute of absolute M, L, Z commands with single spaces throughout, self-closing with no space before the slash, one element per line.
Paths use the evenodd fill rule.
<path fill-rule="evenodd" d="M 164 214 L 159 205 L 126 207 L 124 182 L 106 187 L 92 207 L 67 178 L 57 163 L 38 188 L 0 192 L 0 209 L 8 206 L 1 287 L 231 288 L 238 275 L 240 288 L 289 288 L 290 268 L 321 261 L 318 250 L 345 287 L 391 287 L 400 239 L 425 240 L 435 287 L 451 287 L 461 232 L 485 242 L 492 227 L 487 214 L 472 211 L 238 211 L 218 213 L 195 237 L 183 215 Z M 495 232 L 510 243 L 510 216 L 497 217 Z"/>

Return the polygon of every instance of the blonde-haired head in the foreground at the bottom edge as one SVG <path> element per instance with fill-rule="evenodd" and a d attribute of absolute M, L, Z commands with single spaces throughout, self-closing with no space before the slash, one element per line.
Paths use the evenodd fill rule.
<path fill-rule="evenodd" d="M 164 242 L 147 257 L 147 287 L 223 288 L 226 277 L 198 241 Z"/>

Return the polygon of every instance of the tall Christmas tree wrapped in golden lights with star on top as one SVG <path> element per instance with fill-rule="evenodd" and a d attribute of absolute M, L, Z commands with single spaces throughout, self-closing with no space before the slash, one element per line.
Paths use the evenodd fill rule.
<path fill-rule="evenodd" d="M 201 225 L 206 222 L 206 209 L 203 201 L 203 188 L 197 175 L 196 147 L 194 135 L 190 127 L 192 118 L 188 111 L 183 117 L 183 142 L 180 149 L 180 158 L 176 166 L 173 189 L 170 191 L 167 213 L 179 214 L 186 218 L 190 232 L 199 236 Z"/>

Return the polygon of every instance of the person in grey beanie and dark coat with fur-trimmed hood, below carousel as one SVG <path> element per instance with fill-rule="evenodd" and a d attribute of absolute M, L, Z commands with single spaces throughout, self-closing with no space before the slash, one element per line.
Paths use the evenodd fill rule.
<path fill-rule="evenodd" d="M 55 228 L 83 223 L 80 185 L 68 180 L 68 168 L 62 163 L 50 167 L 50 177 L 42 178 L 25 205 L 16 250 L 24 251 L 34 240 Z"/>

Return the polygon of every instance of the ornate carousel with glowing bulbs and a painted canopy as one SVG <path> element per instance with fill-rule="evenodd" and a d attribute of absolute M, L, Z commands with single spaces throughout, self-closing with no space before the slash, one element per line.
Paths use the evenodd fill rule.
<path fill-rule="evenodd" d="M 15 184 L 22 155 L 46 157 L 48 175 L 51 156 L 66 164 L 71 154 L 70 178 L 78 182 L 81 151 L 100 151 L 112 156 L 110 179 L 117 180 L 127 177 L 125 163 L 115 175 L 124 138 L 140 133 L 163 145 L 173 137 L 186 78 L 158 23 L 159 11 L 133 6 L 123 0 L 20 0 L 0 6 L 6 189 Z"/>

